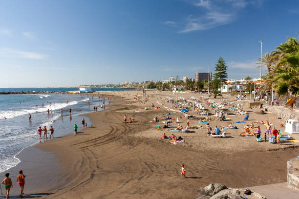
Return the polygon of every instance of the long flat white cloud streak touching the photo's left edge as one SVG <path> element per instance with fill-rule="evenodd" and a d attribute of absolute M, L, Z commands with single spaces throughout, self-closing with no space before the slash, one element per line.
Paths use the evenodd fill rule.
<path fill-rule="evenodd" d="M 35 52 L 14 50 L 11 48 L 0 48 L 0 57 L 43 60 L 47 58 L 48 55 Z"/>

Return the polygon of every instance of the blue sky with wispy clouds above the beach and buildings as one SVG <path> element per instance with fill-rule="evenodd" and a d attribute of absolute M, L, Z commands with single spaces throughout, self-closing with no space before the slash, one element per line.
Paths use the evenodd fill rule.
<path fill-rule="evenodd" d="M 221 56 L 229 78 L 258 78 L 298 37 L 298 0 L 0 1 L 0 87 L 195 77 Z"/>

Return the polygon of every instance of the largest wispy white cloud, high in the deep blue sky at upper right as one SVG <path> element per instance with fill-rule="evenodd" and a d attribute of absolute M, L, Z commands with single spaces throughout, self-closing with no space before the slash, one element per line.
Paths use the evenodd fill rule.
<path fill-rule="evenodd" d="M 188 33 L 194 30 L 207 30 L 219 25 L 232 22 L 234 16 L 232 14 L 224 14 L 219 12 L 208 12 L 200 18 L 188 17 L 186 27 L 179 33 Z"/>

